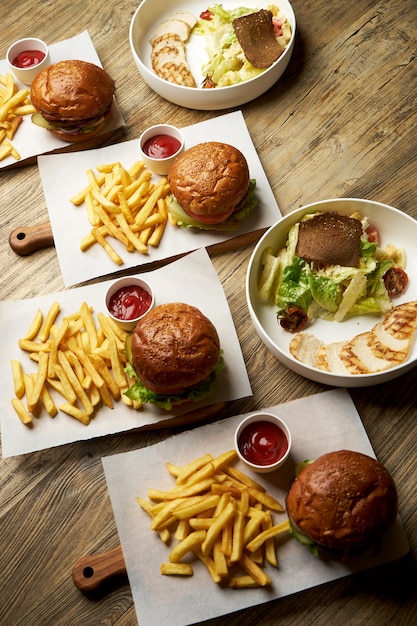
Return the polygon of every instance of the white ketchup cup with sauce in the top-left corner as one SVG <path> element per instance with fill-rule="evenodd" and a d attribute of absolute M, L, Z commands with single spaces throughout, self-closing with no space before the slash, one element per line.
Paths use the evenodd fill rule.
<path fill-rule="evenodd" d="M 12 43 L 6 59 L 13 74 L 24 85 L 30 85 L 36 74 L 51 63 L 46 43 L 33 37 Z"/>

